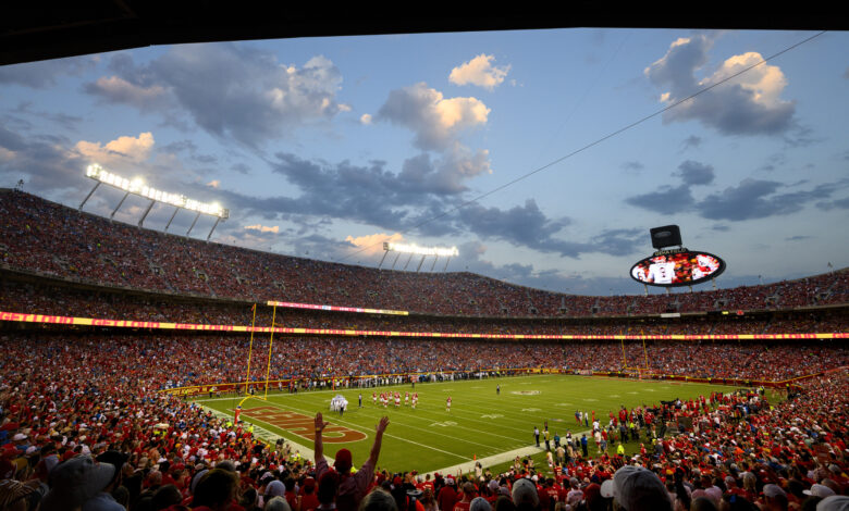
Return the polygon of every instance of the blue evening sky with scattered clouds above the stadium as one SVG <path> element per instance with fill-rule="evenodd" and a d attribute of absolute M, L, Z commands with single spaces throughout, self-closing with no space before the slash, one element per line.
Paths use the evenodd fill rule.
<path fill-rule="evenodd" d="M 217 242 L 372 267 L 384 240 L 456 246 L 421 271 L 570 294 L 644 292 L 628 271 L 668 224 L 725 259 L 719 288 L 798 278 L 849 266 L 847 48 L 841 32 L 570 28 L 7 65 L 0 186 L 76 208 L 98 163 L 230 209 Z M 84 211 L 122 197 L 101 186 Z"/>

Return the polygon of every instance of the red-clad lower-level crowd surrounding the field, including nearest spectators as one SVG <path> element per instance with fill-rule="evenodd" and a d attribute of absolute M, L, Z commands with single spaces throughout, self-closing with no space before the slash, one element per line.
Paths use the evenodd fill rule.
<path fill-rule="evenodd" d="M 604 495 L 616 495 L 619 487 L 611 489 L 613 483 L 604 481 L 627 463 L 643 465 L 654 474 L 652 477 L 659 477 L 651 482 L 667 490 L 659 495 L 668 499 L 668 509 L 721 509 L 723 501 L 729 506 L 724 509 L 752 509 L 741 508 L 742 502 L 782 509 L 768 507 L 774 499 L 780 503 L 782 498 L 799 509 L 808 500 L 805 490 L 820 497 L 827 490 L 845 495 L 849 484 L 849 377 L 845 370 L 802 382 L 800 396 L 775 406 L 767 395 L 749 392 L 666 402 L 657 409 L 611 410 L 611 421 L 606 416 L 600 421 L 599 437 L 606 445 L 596 445 L 590 435 L 585 451 L 577 434 L 574 438 L 564 436 L 562 451 L 552 447 L 556 457 L 552 457 L 551 468 L 533 470 L 518 463 L 505 474 L 480 471 L 473 476 L 450 479 L 440 475 L 435 481 L 424 481 L 413 472 L 374 473 L 372 463 L 358 472 L 362 475 L 354 485 L 339 475 L 325 479 L 327 465 L 317 465 L 285 445 L 261 441 L 245 425 L 156 392 L 164 386 L 238 377 L 231 362 L 244 353 L 241 340 L 38 334 L 14 335 L 2 342 L 7 354 L 0 362 L 2 511 L 36 509 L 39 501 L 42 510 L 310 511 L 332 509 L 332 503 L 343 510 L 356 509 L 373 488 L 385 489 L 394 501 L 386 503 L 394 503 L 398 510 L 410 506 L 418 509 L 407 497 L 408 493 L 418 495 L 417 489 L 422 491 L 421 503 L 434 504 L 430 509 L 454 511 L 458 502 L 469 503 L 478 496 L 496 508 L 502 494 L 510 502 L 501 506 L 525 506 L 522 509 L 528 511 L 553 511 L 557 502 L 561 510 L 607 509 L 610 499 Z M 290 367 L 287 361 L 293 360 L 341 361 L 339 365 L 310 367 L 322 374 L 344 374 L 358 366 L 377 370 L 382 367 L 369 365 L 380 363 L 377 359 L 403 364 L 417 357 L 421 358 L 416 361 L 419 369 L 464 369 L 471 365 L 464 362 L 469 348 L 488 362 L 515 360 L 519 365 L 540 364 L 576 352 L 573 347 L 556 345 L 481 342 L 470 347 L 465 341 L 429 342 L 423 347 L 420 341 L 407 340 L 294 339 L 281 345 L 274 364 L 283 367 Z M 602 360 L 617 360 L 622 356 L 617 348 L 587 345 L 577 350 L 581 357 L 575 360 L 589 364 L 593 353 Z M 366 356 L 374 350 L 380 350 L 381 357 Z M 704 371 L 722 364 L 729 354 L 735 356 L 736 364 L 719 365 L 721 371 L 734 372 L 735 365 L 745 371 L 752 364 L 760 371 L 771 365 L 775 370 L 782 360 L 792 366 L 810 363 L 814 369 L 847 362 L 844 349 L 773 347 L 765 352 L 728 345 L 700 350 L 691 356 L 691 351 L 676 350 L 668 344 L 655 354 L 666 365 L 697 361 Z M 639 358 L 635 347 L 629 347 L 626 354 Z M 348 361 L 348 356 L 357 359 Z M 618 429 L 614 422 L 617 419 Z M 639 425 L 629 424 L 623 432 L 625 421 Z M 669 435 L 664 436 L 667 426 Z M 615 450 L 623 436 L 636 436 L 643 444 L 632 460 Z M 93 463 L 93 458 L 100 464 Z M 116 469 L 104 466 L 110 463 Z M 336 463 L 342 469 L 339 458 Z M 411 465 L 414 469 L 415 461 Z M 522 482 L 524 477 L 530 478 Z M 356 491 L 350 491 L 357 494 L 353 499 L 345 494 L 352 487 Z M 274 508 L 276 496 L 283 497 L 288 508 Z M 625 498 L 622 493 L 619 497 Z M 365 501 L 379 498 L 387 497 Z M 626 506 L 623 502 L 628 510 L 661 509 Z M 460 506 L 464 509 L 465 504 Z"/>

